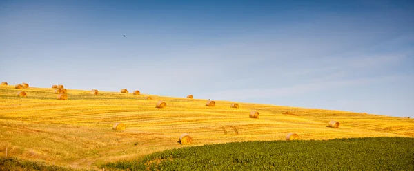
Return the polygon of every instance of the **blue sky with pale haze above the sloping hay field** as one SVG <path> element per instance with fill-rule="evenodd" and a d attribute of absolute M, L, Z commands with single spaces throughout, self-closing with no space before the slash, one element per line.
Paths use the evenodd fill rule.
<path fill-rule="evenodd" d="M 412 9 L 413 1 L 0 1 L 0 81 L 414 117 Z"/>

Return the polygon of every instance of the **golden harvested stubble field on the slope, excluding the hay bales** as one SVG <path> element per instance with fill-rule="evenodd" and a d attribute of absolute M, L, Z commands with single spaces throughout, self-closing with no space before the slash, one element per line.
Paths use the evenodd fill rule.
<path fill-rule="evenodd" d="M 46 161 L 59 166 L 96 168 L 101 163 L 135 159 L 152 152 L 230 141 L 283 140 L 293 132 L 300 139 L 343 137 L 414 137 L 414 119 L 364 113 L 303 109 L 288 106 L 215 100 L 170 98 L 68 89 L 68 100 L 57 100 L 55 89 L 27 88 L 17 97 L 14 86 L 0 87 L 0 155 Z M 155 108 L 164 100 L 164 109 Z M 250 111 L 260 113 L 249 118 Z M 282 114 L 286 111 L 293 115 Z M 339 128 L 328 128 L 335 120 Z M 113 124 L 126 130 L 112 130 Z M 238 135 L 235 135 L 237 130 Z M 177 141 L 182 133 L 192 145 Z"/>

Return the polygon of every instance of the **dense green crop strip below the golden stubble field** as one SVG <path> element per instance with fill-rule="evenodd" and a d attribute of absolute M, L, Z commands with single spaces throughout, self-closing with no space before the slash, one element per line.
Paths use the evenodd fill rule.
<path fill-rule="evenodd" d="M 414 170 L 414 138 L 249 141 L 156 152 L 115 170 Z"/>

